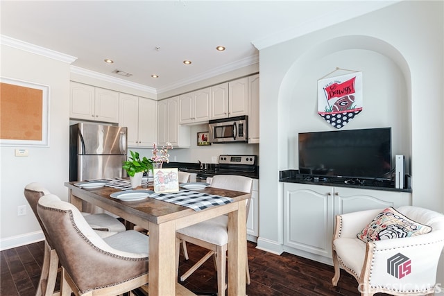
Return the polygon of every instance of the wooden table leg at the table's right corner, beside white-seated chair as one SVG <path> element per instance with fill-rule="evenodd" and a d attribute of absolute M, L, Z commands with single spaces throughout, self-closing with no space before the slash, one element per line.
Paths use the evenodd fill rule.
<path fill-rule="evenodd" d="M 228 295 L 246 295 L 246 200 L 228 214 Z"/>

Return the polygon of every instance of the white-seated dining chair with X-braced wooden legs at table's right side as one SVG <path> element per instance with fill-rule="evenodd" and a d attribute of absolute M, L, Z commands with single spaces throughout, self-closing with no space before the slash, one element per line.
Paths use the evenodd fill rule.
<path fill-rule="evenodd" d="M 253 187 L 253 180 L 250 177 L 238 175 L 215 175 L 211 180 L 211 187 L 228 189 L 234 191 L 241 191 L 251 193 Z M 250 207 L 250 198 L 247 200 L 246 211 L 248 215 Z M 246 223 L 246 221 L 245 221 Z M 228 250 L 228 216 L 218 216 L 210 220 L 191 225 L 179 229 L 176 232 L 176 254 L 179 257 L 180 243 L 185 246 L 186 242 L 199 245 L 209 250 L 202 259 L 194 264 L 187 272 L 180 276 L 180 281 L 185 281 L 200 265 L 207 259 L 214 256 L 217 270 L 217 295 L 225 295 L 225 278 L 226 278 L 226 256 Z M 246 276 L 247 284 L 250 284 L 250 272 L 248 270 L 248 254 L 246 252 Z M 184 248 L 185 259 L 188 258 L 187 249 Z M 230 256 L 230 254 L 228 254 Z M 178 269 L 179 258 L 176 259 Z"/>

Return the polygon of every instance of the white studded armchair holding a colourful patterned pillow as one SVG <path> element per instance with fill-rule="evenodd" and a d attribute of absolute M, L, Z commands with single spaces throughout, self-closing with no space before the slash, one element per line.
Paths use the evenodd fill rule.
<path fill-rule="evenodd" d="M 362 296 L 434 295 L 443 246 L 444 215 L 429 209 L 404 206 L 336 216 L 332 284 L 338 284 L 342 267 L 357 279 Z"/>

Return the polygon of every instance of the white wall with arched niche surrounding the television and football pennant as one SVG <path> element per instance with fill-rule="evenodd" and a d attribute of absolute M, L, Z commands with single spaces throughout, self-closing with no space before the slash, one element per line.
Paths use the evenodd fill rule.
<path fill-rule="evenodd" d="M 391 125 L 413 205 L 444 211 L 443 19 L 442 1 L 402 1 L 260 51 L 259 247 L 282 251 L 277 175 L 297 168 L 296 133 L 335 130 L 316 113 L 316 85 L 336 67 L 364 75 L 364 111 L 346 128 Z"/>

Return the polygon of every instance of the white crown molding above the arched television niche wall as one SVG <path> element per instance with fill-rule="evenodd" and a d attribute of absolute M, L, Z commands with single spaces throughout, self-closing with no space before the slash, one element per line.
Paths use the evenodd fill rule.
<path fill-rule="evenodd" d="M 341 10 L 332 10 L 331 12 L 320 15 L 316 19 L 311 19 L 298 26 L 293 26 L 292 28 L 287 28 L 280 31 L 280 33 L 273 33 L 273 35 L 268 35 L 266 37 L 253 40 L 251 42 L 257 49 L 266 49 L 269 46 L 280 44 L 292 40 L 294 38 L 313 33 L 314 31 L 321 30 L 322 28 L 327 28 L 335 24 L 339 24 L 343 21 L 348 21 L 349 19 L 354 19 L 355 17 L 360 17 L 361 15 L 366 15 L 369 12 L 391 6 L 402 0 L 391 0 L 391 1 L 357 1 L 356 3 L 350 3 L 346 9 L 341 8 Z"/>

